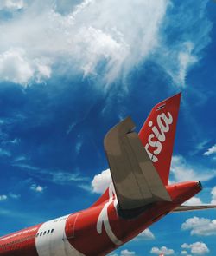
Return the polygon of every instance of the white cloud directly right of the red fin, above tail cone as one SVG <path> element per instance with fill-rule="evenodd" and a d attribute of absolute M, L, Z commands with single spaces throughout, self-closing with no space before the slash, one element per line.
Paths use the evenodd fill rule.
<path fill-rule="evenodd" d="M 205 170 L 205 171 L 204 171 Z M 216 170 L 192 166 L 181 155 L 175 155 L 171 164 L 171 181 L 208 181 L 216 175 Z"/>

